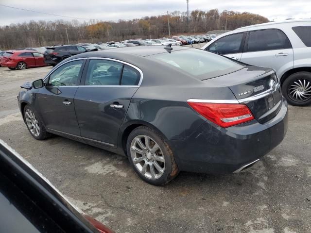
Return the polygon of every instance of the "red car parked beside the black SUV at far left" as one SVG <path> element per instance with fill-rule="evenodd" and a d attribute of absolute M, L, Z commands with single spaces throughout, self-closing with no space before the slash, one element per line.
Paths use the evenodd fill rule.
<path fill-rule="evenodd" d="M 9 69 L 26 69 L 29 67 L 45 67 L 43 54 L 32 50 L 6 51 L 0 59 L 1 67 Z"/>

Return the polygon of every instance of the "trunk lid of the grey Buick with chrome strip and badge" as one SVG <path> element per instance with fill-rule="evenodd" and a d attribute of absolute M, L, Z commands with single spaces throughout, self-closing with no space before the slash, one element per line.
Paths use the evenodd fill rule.
<path fill-rule="evenodd" d="M 228 86 L 239 103 L 249 107 L 259 123 L 275 117 L 282 106 L 279 81 L 271 68 L 246 66 L 205 82 Z"/>

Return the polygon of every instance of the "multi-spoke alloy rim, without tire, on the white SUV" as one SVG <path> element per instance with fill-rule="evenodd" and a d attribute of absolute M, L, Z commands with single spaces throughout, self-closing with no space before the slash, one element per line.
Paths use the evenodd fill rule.
<path fill-rule="evenodd" d="M 288 95 L 295 101 L 302 102 L 311 98 L 311 83 L 306 79 L 295 80 L 288 88 Z"/>

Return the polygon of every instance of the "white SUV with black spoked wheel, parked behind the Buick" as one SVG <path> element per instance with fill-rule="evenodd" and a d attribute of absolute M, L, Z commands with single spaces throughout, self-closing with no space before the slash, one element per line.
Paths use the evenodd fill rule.
<path fill-rule="evenodd" d="M 311 103 L 311 19 L 251 25 L 221 34 L 202 49 L 272 67 L 292 105 Z"/>

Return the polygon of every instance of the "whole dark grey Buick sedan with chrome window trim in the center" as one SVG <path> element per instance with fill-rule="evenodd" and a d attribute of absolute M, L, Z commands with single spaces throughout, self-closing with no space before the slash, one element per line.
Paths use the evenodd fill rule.
<path fill-rule="evenodd" d="M 179 171 L 239 172 L 283 140 L 287 102 L 273 69 L 172 48 L 126 47 L 64 60 L 18 94 L 29 132 L 125 155 L 151 184 Z"/>

